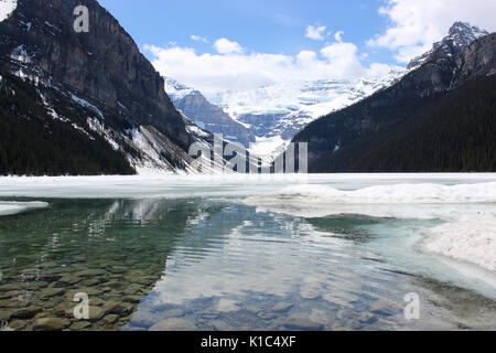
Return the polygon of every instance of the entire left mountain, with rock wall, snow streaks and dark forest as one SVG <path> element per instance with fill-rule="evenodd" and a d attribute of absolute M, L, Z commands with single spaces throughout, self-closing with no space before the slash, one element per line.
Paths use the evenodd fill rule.
<path fill-rule="evenodd" d="M 73 29 L 80 4 L 88 33 Z M 191 162 L 197 137 L 163 78 L 95 0 L 19 0 L 0 23 L 0 174 L 172 171 Z"/>

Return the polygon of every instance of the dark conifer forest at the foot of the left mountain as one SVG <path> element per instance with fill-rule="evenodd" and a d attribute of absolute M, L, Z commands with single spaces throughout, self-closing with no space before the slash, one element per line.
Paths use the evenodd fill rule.
<path fill-rule="evenodd" d="M 86 118 L 62 105 L 55 111 L 71 122 L 48 115 L 36 88 L 19 77 L 0 82 L 0 174 L 99 175 L 133 174 L 123 153 L 98 133 L 88 131 Z M 72 126 L 85 127 L 90 138 Z"/>

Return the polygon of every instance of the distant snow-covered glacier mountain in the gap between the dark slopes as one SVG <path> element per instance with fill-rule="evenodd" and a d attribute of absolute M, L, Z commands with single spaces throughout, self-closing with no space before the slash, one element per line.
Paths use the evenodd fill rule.
<path fill-rule="evenodd" d="M 397 68 L 380 78 L 289 81 L 249 92 L 222 92 L 212 101 L 255 133 L 254 153 L 267 154 L 319 117 L 389 86 L 402 74 Z"/>

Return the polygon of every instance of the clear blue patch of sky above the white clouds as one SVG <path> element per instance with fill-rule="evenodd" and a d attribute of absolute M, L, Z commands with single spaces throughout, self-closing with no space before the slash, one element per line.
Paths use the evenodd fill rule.
<path fill-rule="evenodd" d="M 133 36 L 140 47 L 192 46 L 214 53 L 213 41 L 227 38 L 250 51 L 298 54 L 322 45 L 304 36 L 309 24 L 326 26 L 326 33 L 344 32 L 358 47 L 374 33 L 384 32 L 388 19 L 378 13 L 384 0 L 99 0 Z M 191 35 L 206 38 L 195 42 Z M 332 40 L 333 38 L 328 38 Z M 370 52 L 369 50 L 367 52 Z M 389 50 L 375 49 L 366 62 L 395 62 Z"/>

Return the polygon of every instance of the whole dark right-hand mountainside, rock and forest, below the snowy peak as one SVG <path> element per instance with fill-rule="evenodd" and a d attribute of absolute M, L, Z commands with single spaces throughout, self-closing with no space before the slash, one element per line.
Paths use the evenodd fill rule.
<path fill-rule="evenodd" d="M 309 142 L 310 171 L 494 171 L 496 148 L 489 148 L 496 136 L 494 124 L 470 125 L 471 129 L 459 133 L 462 126 L 467 126 L 466 121 L 482 124 L 496 119 L 494 96 L 481 94 L 477 100 L 473 95 L 463 98 L 457 92 L 479 90 L 478 85 L 485 89 L 492 87 L 495 53 L 496 33 L 464 45 L 457 54 L 434 45 L 423 64 L 391 87 L 314 121 L 294 138 L 295 142 Z M 443 114 L 449 103 L 454 103 L 452 97 L 457 97 L 459 109 L 451 109 L 451 115 Z M 445 128 L 436 129 L 440 133 L 436 139 L 431 136 L 429 118 Z M 402 136 L 401 143 L 396 136 Z M 408 138 L 416 138 L 411 143 L 422 148 L 406 148 L 403 142 Z"/>

